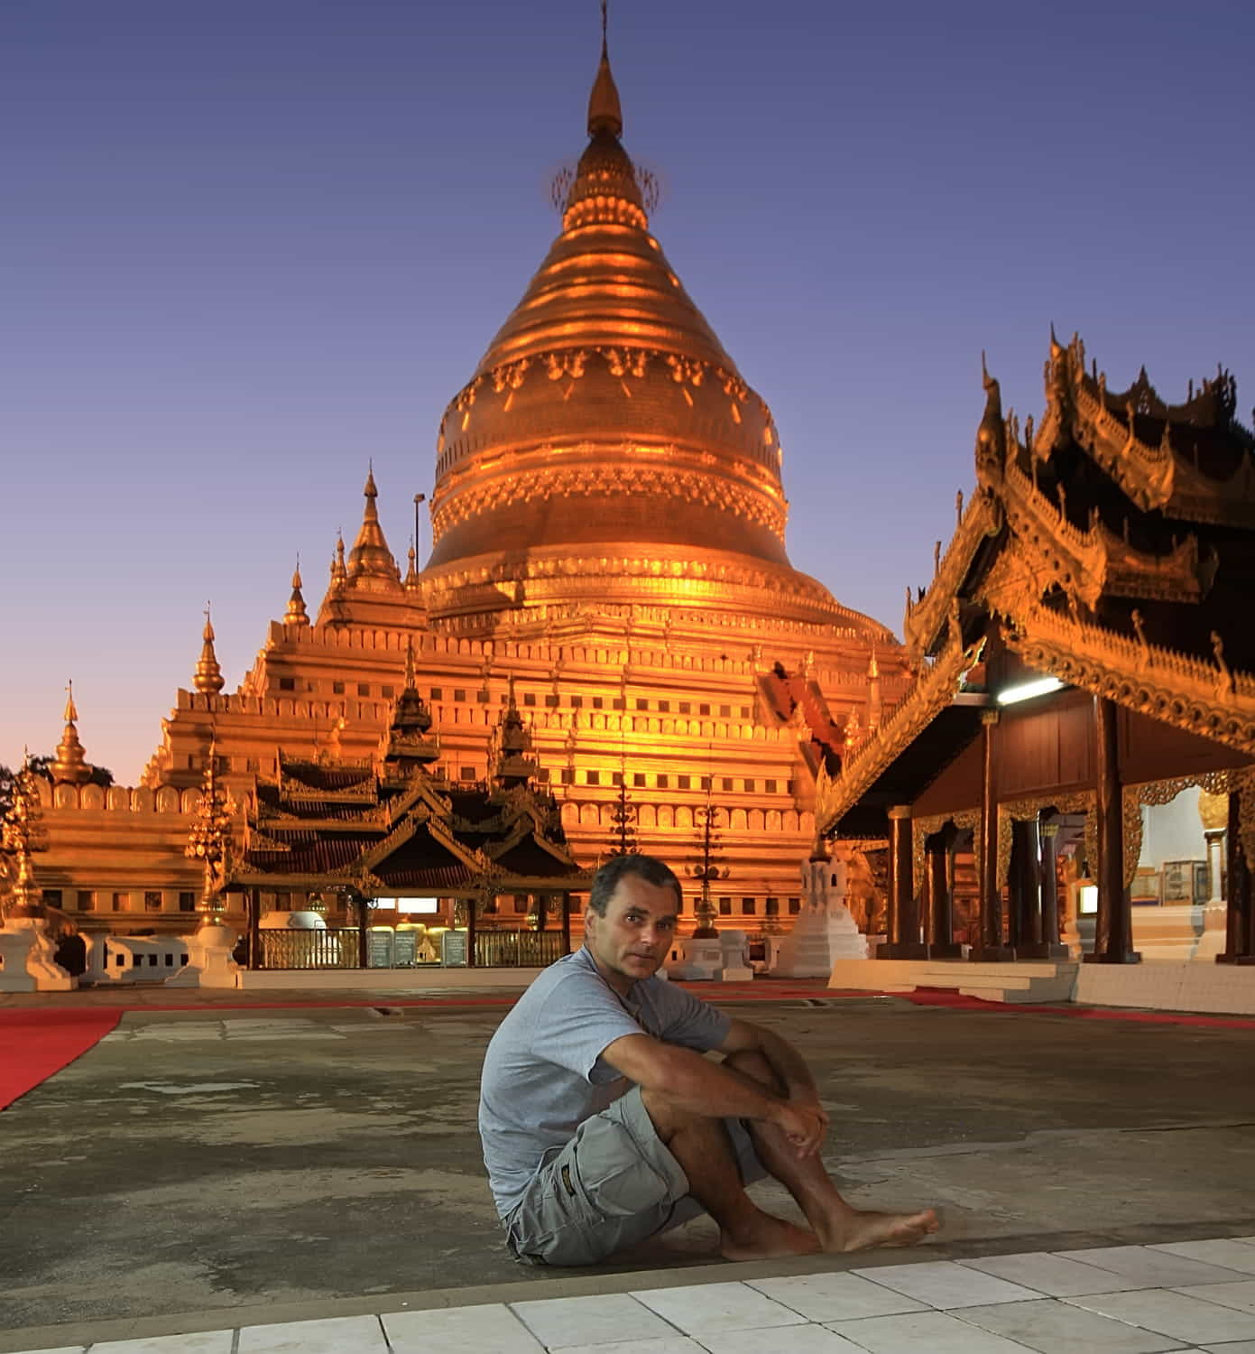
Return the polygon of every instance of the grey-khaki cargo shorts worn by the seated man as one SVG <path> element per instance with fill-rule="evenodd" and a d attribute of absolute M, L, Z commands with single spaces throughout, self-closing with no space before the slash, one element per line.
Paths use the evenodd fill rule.
<path fill-rule="evenodd" d="M 766 1171 L 741 1120 L 724 1120 L 742 1182 Z M 705 1209 L 658 1137 L 634 1086 L 547 1156 L 504 1220 L 506 1244 L 531 1265 L 596 1265 Z"/>

